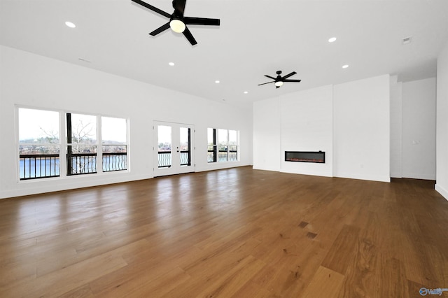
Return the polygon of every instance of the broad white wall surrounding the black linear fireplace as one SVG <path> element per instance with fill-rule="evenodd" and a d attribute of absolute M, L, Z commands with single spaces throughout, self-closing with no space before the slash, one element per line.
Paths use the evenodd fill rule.
<path fill-rule="evenodd" d="M 390 181 L 389 92 L 384 75 L 255 102 L 254 168 Z M 326 164 L 284 162 L 284 150 L 325 150 Z"/>

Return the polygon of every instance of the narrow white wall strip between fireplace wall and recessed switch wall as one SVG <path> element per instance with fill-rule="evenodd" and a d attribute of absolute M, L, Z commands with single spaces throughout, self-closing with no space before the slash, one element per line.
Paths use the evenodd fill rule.
<path fill-rule="evenodd" d="M 402 83 L 391 76 L 391 177 L 402 178 Z"/>

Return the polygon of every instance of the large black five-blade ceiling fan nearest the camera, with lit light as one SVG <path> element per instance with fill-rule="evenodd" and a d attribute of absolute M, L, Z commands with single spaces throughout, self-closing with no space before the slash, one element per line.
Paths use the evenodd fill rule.
<path fill-rule="evenodd" d="M 155 29 L 150 33 L 152 36 L 156 36 L 157 34 L 167 30 L 171 27 L 171 29 L 176 33 L 183 33 L 183 35 L 190 41 L 191 45 L 197 44 L 197 41 L 191 34 L 190 30 L 186 25 L 188 24 L 198 24 L 198 25 L 208 25 L 208 26 L 219 26 L 219 19 L 207 19 L 205 17 L 184 17 L 183 10 L 185 10 L 186 0 L 173 0 L 173 8 L 174 13 L 171 15 L 169 13 L 165 13 L 165 11 L 160 10 L 157 7 L 154 7 L 144 1 L 141 0 L 132 0 L 135 3 L 140 4 L 148 9 L 155 11 L 155 13 L 159 13 L 164 17 L 169 17 L 169 22 L 160 26 L 158 29 Z"/>

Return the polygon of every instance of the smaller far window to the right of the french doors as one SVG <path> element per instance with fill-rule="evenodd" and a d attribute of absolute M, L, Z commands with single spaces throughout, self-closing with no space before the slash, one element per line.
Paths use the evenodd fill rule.
<path fill-rule="evenodd" d="M 237 130 L 214 129 L 207 131 L 208 162 L 237 162 L 238 156 Z"/>

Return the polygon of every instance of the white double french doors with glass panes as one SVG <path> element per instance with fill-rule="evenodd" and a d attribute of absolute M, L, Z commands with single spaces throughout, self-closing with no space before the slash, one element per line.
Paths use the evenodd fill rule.
<path fill-rule="evenodd" d="M 154 176 L 195 171 L 194 126 L 154 122 Z"/>

